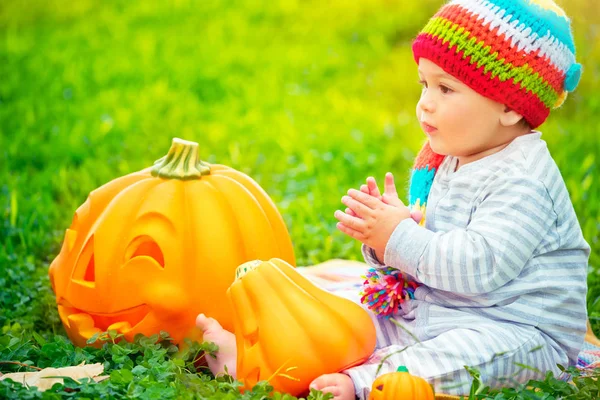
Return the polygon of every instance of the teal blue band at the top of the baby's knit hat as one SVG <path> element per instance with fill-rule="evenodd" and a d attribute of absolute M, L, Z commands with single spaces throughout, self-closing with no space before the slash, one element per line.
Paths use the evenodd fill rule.
<path fill-rule="evenodd" d="M 510 15 L 510 22 L 518 20 L 540 37 L 548 35 L 548 31 L 564 43 L 575 54 L 575 43 L 571 35 L 571 26 L 567 18 L 531 3 L 527 0 L 487 0 L 492 5 L 506 10 L 504 17 Z"/>

